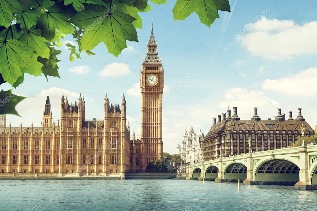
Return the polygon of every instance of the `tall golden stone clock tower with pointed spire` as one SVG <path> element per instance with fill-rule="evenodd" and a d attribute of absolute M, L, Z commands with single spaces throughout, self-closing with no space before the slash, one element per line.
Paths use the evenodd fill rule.
<path fill-rule="evenodd" d="M 162 98 L 163 68 L 158 56 L 158 46 L 153 34 L 147 43 L 146 58 L 140 77 L 141 102 L 141 165 L 142 170 L 155 159 L 163 159 Z"/>

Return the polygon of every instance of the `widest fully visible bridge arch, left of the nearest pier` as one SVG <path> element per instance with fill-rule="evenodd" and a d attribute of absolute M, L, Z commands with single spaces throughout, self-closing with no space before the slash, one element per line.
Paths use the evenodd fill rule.
<path fill-rule="evenodd" d="M 266 185 L 294 185 L 299 181 L 299 162 L 295 158 L 268 158 L 254 168 L 254 183 Z"/>

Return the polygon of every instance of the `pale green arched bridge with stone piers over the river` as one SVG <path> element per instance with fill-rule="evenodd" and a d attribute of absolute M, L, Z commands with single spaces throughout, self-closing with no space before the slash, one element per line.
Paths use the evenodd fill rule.
<path fill-rule="evenodd" d="M 317 145 L 253 152 L 192 163 L 187 179 L 317 189 Z"/>

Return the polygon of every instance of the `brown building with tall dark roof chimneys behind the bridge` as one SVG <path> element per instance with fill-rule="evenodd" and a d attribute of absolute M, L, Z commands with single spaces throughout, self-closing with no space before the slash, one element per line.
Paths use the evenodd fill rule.
<path fill-rule="evenodd" d="M 298 116 L 293 119 L 292 111 L 289 111 L 289 118 L 285 119 L 285 114 L 278 108 L 275 120 L 261 120 L 257 114 L 257 108 L 254 108 L 254 115 L 250 120 L 240 120 L 237 115 L 237 108 L 234 107 L 234 113 L 231 117 L 231 111 L 218 115 L 214 118 L 213 125 L 204 138 L 204 160 L 212 160 L 229 155 L 238 155 L 249 152 L 249 137 L 253 152 L 259 152 L 270 149 L 279 149 L 288 147 L 301 135 L 301 126 L 306 129 L 305 135 L 314 134 L 312 127 L 308 125 L 301 109 L 298 109 Z"/>

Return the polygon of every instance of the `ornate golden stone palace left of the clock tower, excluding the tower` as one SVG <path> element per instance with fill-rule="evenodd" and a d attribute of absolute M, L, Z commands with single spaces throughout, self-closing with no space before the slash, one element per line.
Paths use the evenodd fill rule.
<path fill-rule="evenodd" d="M 121 109 L 104 102 L 102 120 L 85 119 L 85 100 L 61 97 L 61 121 L 52 122 L 49 97 L 42 127 L 1 127 L 1 172 L 59 173 L 60 176 L 123 174 L 130 171 L 126 100 Z"/>

